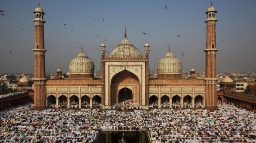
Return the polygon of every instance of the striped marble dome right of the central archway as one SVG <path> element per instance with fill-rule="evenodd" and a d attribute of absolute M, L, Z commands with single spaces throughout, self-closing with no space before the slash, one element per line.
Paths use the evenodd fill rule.
<path fill-rule="evenodd" d="M 171 53 L 170 46 L 167 54 L 157 63 L 158 74 L 181 74 L 182 64 Z"/>

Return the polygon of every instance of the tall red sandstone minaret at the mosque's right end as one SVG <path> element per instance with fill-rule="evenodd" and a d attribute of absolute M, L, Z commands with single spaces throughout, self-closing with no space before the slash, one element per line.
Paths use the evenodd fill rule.
<path fill-rule="evenodd" d="M 205 63 L 205 109 L 217 109 L 217 78 L 216 78 L 216 17 L 217 11 L 211 6 L 208 8 L 206 15 L 207 20 L 207 37 L 206 37 L 206 63 Z"/>

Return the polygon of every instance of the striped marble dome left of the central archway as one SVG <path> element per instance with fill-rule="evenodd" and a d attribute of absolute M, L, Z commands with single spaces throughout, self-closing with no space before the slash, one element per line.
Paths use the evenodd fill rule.
<path fill-rule="evenodd" d="M 70 74 L 93 74 L 94 73 L 94 63 L 87 57 L 83 52 L 83 47 L 81 47 L 81 52 L 77 57 L 75 57 L 69 63 Z"/>

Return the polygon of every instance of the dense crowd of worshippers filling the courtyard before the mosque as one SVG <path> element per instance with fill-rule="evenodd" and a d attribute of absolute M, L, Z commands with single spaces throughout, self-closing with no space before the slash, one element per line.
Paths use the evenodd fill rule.
<path fill-rule="evenodd" d="M 0 112 L 0 142 L 94 143 L 100 130 L 147 129 L 151 143 L 256 142 L 256 113 L 218 103 L 218 110 L 47 109 L 26 104 Z"/>

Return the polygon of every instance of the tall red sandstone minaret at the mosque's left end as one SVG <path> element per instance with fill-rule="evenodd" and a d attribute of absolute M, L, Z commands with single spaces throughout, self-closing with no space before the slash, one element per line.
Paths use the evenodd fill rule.
<path fill-rule="evenodd" d="M 44 11 L 38 4 L 34 11 L 35 45 L 34 45 L 34 110 L 46 109 L 45 96 L 45 52 L 44 49 Z"/>

